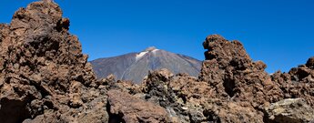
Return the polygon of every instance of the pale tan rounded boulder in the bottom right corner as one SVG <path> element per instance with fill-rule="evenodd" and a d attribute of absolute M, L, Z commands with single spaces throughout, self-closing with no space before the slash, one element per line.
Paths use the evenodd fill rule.
<path fill-rule="evenodd" d="M 314 121 L 314 109 L 302 98 L 288 98 L 266 108 L 269 122 L 301 123 Z"/>

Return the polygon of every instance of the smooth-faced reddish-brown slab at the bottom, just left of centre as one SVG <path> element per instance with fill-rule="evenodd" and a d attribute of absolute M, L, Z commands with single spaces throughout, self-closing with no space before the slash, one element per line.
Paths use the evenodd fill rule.
<path fill-rule="evenodd" d="M 110 118 L 115 118 L 112 120 L 120 118 L 121 121 L 118 122 L 127 123 L 169 122 L 166 110 L 153 103 L 146 102 L 118 90 L 110 90 L 107 94 L 111 113 Z"/>

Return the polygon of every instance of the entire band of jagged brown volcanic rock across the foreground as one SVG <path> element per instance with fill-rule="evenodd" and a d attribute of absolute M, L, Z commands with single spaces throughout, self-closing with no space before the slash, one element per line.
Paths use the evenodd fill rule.
<path fill-rule="evenodd" d="M 0 25 L 2 123 L 314 120 L 314 57 L 270 76 L 239 41 L 212 35 L 198 77 L 160 69 L 141 85 L 96 80 L 69 25 L 51 0 L 20 8 Z"/>

